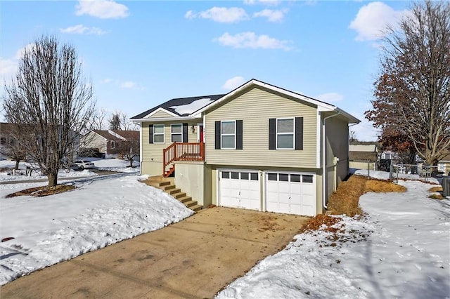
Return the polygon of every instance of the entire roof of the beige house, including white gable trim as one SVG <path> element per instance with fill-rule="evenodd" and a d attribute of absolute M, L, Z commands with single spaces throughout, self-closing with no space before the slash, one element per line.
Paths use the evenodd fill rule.
<path fill-rule="evenodd" d="M 288 96 L 290 98 L 295 98 L 298 100 L 302 100 L 304 102 L 309 102 L 312 105 L 316 105 L 319 112 L 338 112 L 338 114 L 341 114 L 342 116 L 346 117 L 349 120 L 349 124 L 359 124 L 361 122 L 359 119 L 356 119 L 356 117 L 352 116 L 351 114 L 345 112 L 344 110 L 336 107 L 335 105 L 330 105 L 326 102 L 322 102 L 321 100 L 316 100 L 314 98 L 309 98 L 305 95 L 301 95 L 300 93 L 295 93 L 293 91 L 288 91 L 287 89 L 280 88 L 271 84 L 267 84 L 263 81 L 259 81 L 257 79 L 251 79 L 250 81 L 246 82 L 245 84 L 239 86 L 238 88 L 234 89 L 233 91 L 230 91 L 229 93 L 226 93 L 224 95 L 204 95 L 200 97 L 192 97 L 192 98 L 176 98 L 169 100 L 167 102 L 162 103 L 161 105 L 154 107 L 152 109 L 147 110 L 146 112 L 143 112 L 141 114 L 136 115 L 135 117 L 131 117 L 134 121 L 144 121 L 148 120 L 147 118 L 152 115 L 153 112 L 155 112 L 157 109 L 165 110 L 166 112 L 169 112 L 169 114 L 177 114 L 179 117 L 188 117 L 188 118 L 200 118 L 202 115 L 202 112 L 205 112 L 209 109 L 214 109 L 217 105 L 219 105 L 221 102 L 224 102 L 226 100 L 229 100 L 233 98 L 233 96 L 245 91 L 248 88 L 251 88 L 252 86 L 259 86 L 261 88 L 266 88 L 269 91 L 274 91 L 276 93 L 281 93 L 282 95 Z M 200 105 L 196 106 L 193 103 L 195 101 L 201 101 L 205 100 L 205 98 L 210 98 L 210 102 L 203 102 L 205 105 L 203 107 L 200 107 Z M 192 105 L 192 107 L 195 106 L 195 108 L 198 109 L 184 109 L 187 108 L 187 106 Z M 190 113 L 189 113 L 190 112 Z"/>

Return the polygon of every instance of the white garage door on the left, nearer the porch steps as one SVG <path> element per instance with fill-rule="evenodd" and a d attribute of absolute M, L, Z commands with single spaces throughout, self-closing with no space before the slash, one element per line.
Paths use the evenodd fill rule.
<path fill-rule="evenodd" d="M 257 171 L 219 171 L 219 206 L 261 211 Z"/>

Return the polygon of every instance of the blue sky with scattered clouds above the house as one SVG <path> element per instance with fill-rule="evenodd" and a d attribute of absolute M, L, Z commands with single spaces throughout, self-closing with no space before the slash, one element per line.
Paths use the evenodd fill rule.
<path fill-rule="evenodd" d="M 171 98 L 258 79 L 364 120 L 380 32 L 408 1 L 0 1 L 1 82 L 42 34 L 75 46 L 98 108 L 133 117 Z"/>

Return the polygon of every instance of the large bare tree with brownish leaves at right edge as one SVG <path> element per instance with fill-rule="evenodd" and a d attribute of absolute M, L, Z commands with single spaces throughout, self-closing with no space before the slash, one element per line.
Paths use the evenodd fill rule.
<path fill-rule="evenodd" d="M 378 120 L 401 128 L 420 157 L 435 165 L 450 149 L 450 3 L 414 4 L 384 41 L 372 103 L 375 112 L 390 112 Z"/>

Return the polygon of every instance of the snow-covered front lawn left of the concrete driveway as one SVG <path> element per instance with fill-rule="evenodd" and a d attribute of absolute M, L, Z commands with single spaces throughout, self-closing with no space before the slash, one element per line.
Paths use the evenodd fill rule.
<path fill-rule="evenodd" d="M 134 175 L 75 184 L 49 197 L 0 199 L 0 237 L 15 238 L 0 243 L 0 284 L 193 214 Z M 2 194 L 25 189 L 17 185 L 0 185 Z"/>

